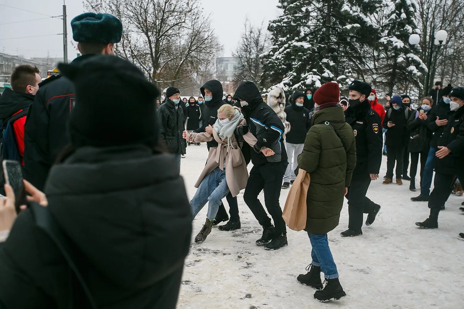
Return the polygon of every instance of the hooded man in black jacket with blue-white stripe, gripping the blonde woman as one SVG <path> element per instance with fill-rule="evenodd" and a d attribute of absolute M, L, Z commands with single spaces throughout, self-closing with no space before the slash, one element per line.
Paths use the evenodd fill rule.
<path fill-rule="evenodd" d="M 239 100 L 246 123 L 258 142 L 251 150 L 253 168 L 246 185 L 243 199 L 259 224 L 263 227 L 263 236 L 256 241 L 266 250 L 277 250 L 287 246 L 287 230 L 282 218 L 279 197 L 287 169 L 287 152 L 283 140 L 284 124 L 274 110 L 267 105 L 253 82 L 242 82 L 234 93 L 234 100 Z M 246 132 L 245 132 L 246 133 Z M 263 147 L 271 148 L 275 155 L 264 157 Z M 258 195 L 264 189 L 264 202 L 274 220 L 266 214 Z"/>

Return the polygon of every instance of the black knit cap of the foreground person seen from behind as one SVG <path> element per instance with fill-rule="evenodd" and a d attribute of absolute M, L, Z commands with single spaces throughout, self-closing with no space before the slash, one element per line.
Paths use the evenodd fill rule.
<path fill-rule="evenodd" d="M 116 56 L 95 55 L 58 65 L 74 83 L 76 103 L 69 120 L 74 147 L 145 144 L 158 141 L 158 89 L 134 64 Z"/>

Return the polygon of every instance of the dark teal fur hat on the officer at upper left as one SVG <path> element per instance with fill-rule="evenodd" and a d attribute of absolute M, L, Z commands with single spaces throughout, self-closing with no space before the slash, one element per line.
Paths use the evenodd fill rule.
<path fill-rule="evenodd" d="M 122 22 L 111 14 L 84 13 L 71 20 L 72 38 L 82 43 L 119 43 Z"/>

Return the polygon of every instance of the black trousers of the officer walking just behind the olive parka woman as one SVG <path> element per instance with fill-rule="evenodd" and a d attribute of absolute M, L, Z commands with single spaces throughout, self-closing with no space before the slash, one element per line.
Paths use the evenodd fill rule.
<path fill-rule="evenodd" d="M 374 210 L 374 205 L 376 204 L 366 196 L 370 184 L 371 178 L 369 174 L 367 174 L 366 177 L 351 180 L 348 193 L 345 195 L 348 199 L 349 229 L 360 230 L 362 227 L 363 214 L 368 214 Z"/>

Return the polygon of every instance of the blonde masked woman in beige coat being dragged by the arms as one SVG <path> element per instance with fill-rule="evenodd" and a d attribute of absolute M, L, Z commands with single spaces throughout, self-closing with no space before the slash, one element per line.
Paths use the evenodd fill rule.
<path fill-rule="evenodd" d="M 206 222 L 195 237 L 197 243 L 205 241 L 208 234 L 211 233 L 211 227 L 213 227 L 213 221 L 221 200 L 229 191 L 232 196 L 237 196 L 241 189 L 245 189 L 248 181 L 245 158 L 234 135 L 237 129 L 248 131 L 246 121 L 238 107 L 231 105 L 219 107 L 216 123 L 208 128 L 206 128 L 206 132 L 191 133 L 188 138 L 188 133 L 184 132 L 184 138 L 192 143 L 209 142 L 213 139 L 218 142 L 218 147 L 211 147 L 209 150 L 206 166 L 195 183 L 195 188 L 198 190 L 190 201 L 193 218 L 205 206 L 206 202 L 209 202 Z M 244 132 L 242 131 L 242 133 Z M 256 138 L 251 132 L 243 134 L 243 138 L 251 147 L 256 144 Z M 274 154 L 268 148 L 263 148 L 261 152 L 265 156 Z"/>

